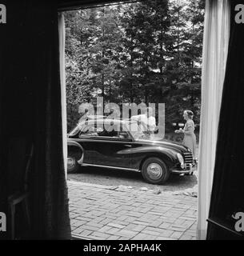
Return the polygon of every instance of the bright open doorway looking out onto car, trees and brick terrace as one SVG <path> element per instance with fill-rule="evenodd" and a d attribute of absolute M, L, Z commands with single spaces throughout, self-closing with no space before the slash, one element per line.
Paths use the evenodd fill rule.
<path fill-rule="evenodd" d="M 182 153 L 186 172 L 174 170 L 167 177 L 165 169 L 175 166 L 155 148 L 184 148 L 184 135 L 175 130 L 185 125 L 184 110 L 191 110 L 197 138 L 192 158 L 198 158 L 204 7 L 202 0 L 169 0 L 64 12 L 73 234 L 87 239 L 195 238 L 198 174 L 188 170 L 196 170 L 196 162 L 187 166 Z M 149 113 L 151 104 L 156 126 L 164 115 L 160 140 L 103 129 L 105 119 L 113 125 L 123 120 L 123 106 L 137 106 L 136 115 L 142 116 L 144 108 L 138 106 Z M 128 113 L 131 119 L 132 110 Z M 175 154 L 180 168 L 180 153 Z"/>

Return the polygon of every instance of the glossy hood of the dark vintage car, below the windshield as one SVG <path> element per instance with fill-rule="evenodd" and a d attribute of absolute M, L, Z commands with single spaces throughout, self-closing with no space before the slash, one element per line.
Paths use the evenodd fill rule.
<path fill-rule="evenodd" d="M 182 144 L 179 144 L 177 142 L 170 142 L 166 139 L 138 139 L 137 142 L 145 144 L 145 145 L 151 145 L 151 146 L 162 146 L 168 150 L 174 150 L 178 153 L 188 152 L 188 148 L 186 146 L 183 146 Z"/>

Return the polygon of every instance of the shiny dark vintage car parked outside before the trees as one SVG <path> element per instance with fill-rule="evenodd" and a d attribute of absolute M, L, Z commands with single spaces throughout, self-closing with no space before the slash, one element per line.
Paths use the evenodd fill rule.
<path fill-rule="evenodd" d="M 137 121 L 87 118 L 68 134 L 68 173 L 79 166 L 99 166 L 142 173 L 146 182 L 162 184 L 170 174 L 192 174 L 193 156 L 186 146 L 157 138 Z"/>

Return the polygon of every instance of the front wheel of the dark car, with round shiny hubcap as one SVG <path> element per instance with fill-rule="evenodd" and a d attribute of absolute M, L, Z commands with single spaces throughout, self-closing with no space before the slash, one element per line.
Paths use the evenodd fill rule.
<path fill-rule="evenodd" d="M 151 184 L 163 184 L 170 178 L 170 170 L 160 158 L 147 158 L 142 164 L 142 177 Z"/>

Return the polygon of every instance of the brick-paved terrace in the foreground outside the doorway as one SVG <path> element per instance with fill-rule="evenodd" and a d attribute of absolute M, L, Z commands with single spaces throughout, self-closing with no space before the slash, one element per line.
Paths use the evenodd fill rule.
<path fill-rule="evenodd" d="M 68 181 L 72 234 L 96 240 L 193 240 L 197 198 Z"/>

